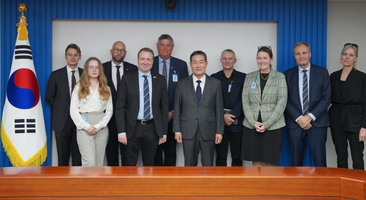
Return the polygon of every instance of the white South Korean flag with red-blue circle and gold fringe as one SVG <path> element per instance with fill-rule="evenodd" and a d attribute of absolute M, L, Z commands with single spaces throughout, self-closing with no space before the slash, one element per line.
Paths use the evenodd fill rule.
<path fill-rule="evenodd" d="M 40 166 L 47 139 L 40 89 L 28 36 L 15 43 L 1 120 L 1 141 L 13 166 Z"/>

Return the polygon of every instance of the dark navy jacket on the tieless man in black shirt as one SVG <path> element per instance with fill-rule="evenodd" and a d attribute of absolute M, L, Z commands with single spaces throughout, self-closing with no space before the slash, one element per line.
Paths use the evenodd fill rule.
<path fill-rule="evenodd" d="M 231 91 L 229 94 L 229 107 L 231 111 L 229 114 L 235 116 L 235 119 L 238 119 L 238 124 L 230 125 L 231 131 L 234 133 L 243 132 L 243 121 L 244 121 L 244 112 L 243 112 L 243 103 L 242 103 L 242 92 L 243 92 L 243 84 L 245 80 L 246 73 L 238 72 L 234 69 L 233 71 L 234 77 L 231 83 Z M 224 71 L 221 70 L 217 73 L 211 75 L 211 77 L 219 79 L 221 81 L 222 91 L 223 91 L 223 99 L 225 99 L 225 91 L 226 88 L 224 84 Z"/>

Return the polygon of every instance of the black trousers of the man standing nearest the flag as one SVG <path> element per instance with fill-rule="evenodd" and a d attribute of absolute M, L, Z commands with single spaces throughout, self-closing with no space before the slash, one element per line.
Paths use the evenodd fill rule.
<path fill-rule="evenodd" d="M 69 166 L 70 154 L 72 166 L 81 166 L 81 154 L 76 140 L 76 125 L 70 114 L 67 117 L 64 129 L 61 132 L 55 131 L 55 139 L 59 166 Z"/>

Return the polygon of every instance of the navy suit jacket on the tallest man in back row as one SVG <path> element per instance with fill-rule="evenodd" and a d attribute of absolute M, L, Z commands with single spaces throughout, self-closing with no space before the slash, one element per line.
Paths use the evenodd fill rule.
<path fill-rule="evenodd" d="M 152 72 L 159 73 L 159 56 L 154 57 L 153 67 L 151 69 Z M 177 59 L 175 57 L 170 57 L 170 69 L 169 69 L 169 83 L 168 83 L 168 103 L 169 103 L 169 111 L 174 109 L 174 95 L 175 88 L 177 87 L 178 81 L 173 82 L 173 74 L 174 72 L 178 75 L 178 81 L 180 79 L 188 77 L 188 66 L 187 63 L 183 60 Z M 174 115 L 173 115 L 174 116 Z M 172 123 L 173 120 L 169 121 Z"/>

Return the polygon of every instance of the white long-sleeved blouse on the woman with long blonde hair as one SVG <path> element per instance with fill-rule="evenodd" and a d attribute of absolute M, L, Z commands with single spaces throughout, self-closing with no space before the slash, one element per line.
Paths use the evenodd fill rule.
<path fill-rule="evenodd" d="M 74 121 L 77 129 L 84 129 L 87 131 L 90 127 L 90 124 L 86 123 L 84 119 L 81 117 L 80 113 L 90 113 L 90 112 L 103 112 L 105 110 L 104 116 L 98 124 L 94 125 L 97 128 L 97 131 L 107 126 L 109 120 L 113 114 L 113 104 L 112 97 L 109 96 L 109 99 L 102 100 L 99 95 L 99 83 L 95 91 L 89 88 L 89 95 L 85 99 L 79 99 L 78 91 L 80 84 L 76 84 L 74 91 L 71 95 L 70 102 L 70 116 L 72 121 Z M 108 87 L 108 86 L 107 86 Z M 109 89 L 109 87 L 108 87 Z M 110 91 L 110 89 L 109 89 Z"/>

